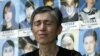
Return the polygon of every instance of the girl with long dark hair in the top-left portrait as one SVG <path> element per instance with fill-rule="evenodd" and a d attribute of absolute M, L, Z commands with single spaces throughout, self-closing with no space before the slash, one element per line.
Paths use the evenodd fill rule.
<path fill-rule="evenodd" d="M 17 29 L 18 26 L 14 20 L 15 17 L 15 8 L 12 8 L 12 3 L 11 1 L 8 1 L 5 6 L 4 6 L 4 10 L 3 10 L 3 26 L 2 26 L 2 31 L 6 31 L 6 30 L 13 30 L 13 29 Z"/>

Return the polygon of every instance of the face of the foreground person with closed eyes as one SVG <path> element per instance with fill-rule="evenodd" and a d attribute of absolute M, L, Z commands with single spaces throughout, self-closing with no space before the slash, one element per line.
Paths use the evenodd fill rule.
<path fill-rule="evenodd" d="M 57 25 L 53 12 L 38 13 L 32 23 L 32 32 L 40 45 L 54 43 L 62 28 Z"/>

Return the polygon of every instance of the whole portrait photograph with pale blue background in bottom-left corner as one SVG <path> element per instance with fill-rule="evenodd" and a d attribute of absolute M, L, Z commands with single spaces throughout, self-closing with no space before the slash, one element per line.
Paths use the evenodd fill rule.
<path fill-rule="evenodd" d="M 18 39 L 0 39 L 0 56 L 18 56 Z"/>

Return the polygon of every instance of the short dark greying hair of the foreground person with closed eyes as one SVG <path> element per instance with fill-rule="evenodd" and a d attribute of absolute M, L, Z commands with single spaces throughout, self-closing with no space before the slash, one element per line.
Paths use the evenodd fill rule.
<path fill-rule="evenodd" d="M 33 25 L 33 21 L 34 21 L 34 17 L 39 14 L 39 13 L 45 13 L 45 12 L 54 12 L 54 16 L 55 18 L 57 19 L 57 26 L 61 26 L 61 22 L 62 22 L 62 14 L 61 14 L 61 11 L 59 10 L 58 7 L 56 8 L 52 8 L 50 6 L 42 6 L 42 7 L 39 7 L 37 8 L 33 13 L 32 13 L 32 16 L 31 16 L 31 25 Z"/>

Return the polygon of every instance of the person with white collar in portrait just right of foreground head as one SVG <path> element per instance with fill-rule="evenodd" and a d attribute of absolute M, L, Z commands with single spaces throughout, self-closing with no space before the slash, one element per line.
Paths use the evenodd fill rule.
<path fill-rule="evenodd" d="M 63 22 L 78 21 L 78 2 L 79 0 L 62 0 L 61 11 Z"/>

